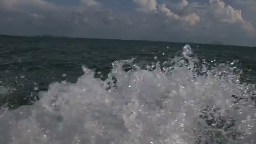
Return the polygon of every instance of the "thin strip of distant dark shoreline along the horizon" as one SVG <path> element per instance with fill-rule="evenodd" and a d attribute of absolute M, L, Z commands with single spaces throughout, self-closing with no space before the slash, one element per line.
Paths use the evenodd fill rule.
<path fill-rule="evenodd" d="M 170 42 L 170 41 L 157 41 L 157 40 L 129 40 L 129 39 L 107 39 L 107 38 L 86 38 L 86 37 L 67 37 L 67 36 L 53 36 L 53 35 L 35 35 L 35 36 L 25 36 L 25 35 L 0 35 L 0 37 L 35 37 L 35 38 L 71 38 L 71 39 L 91 39 L 91 40 L 125 40 L 125 41 L 141 41 L 141 42 L 153 42 L 153 43 L 179 43 L 179 44 L 197 44 L 197 45 L 222 45 L 222 46 L 236 46 L 236 47 L 250 47 L 245 45 L 227 45 L 219 41 L 213 41 L 211 43 L 193 43 L 193 42 Z"/>

